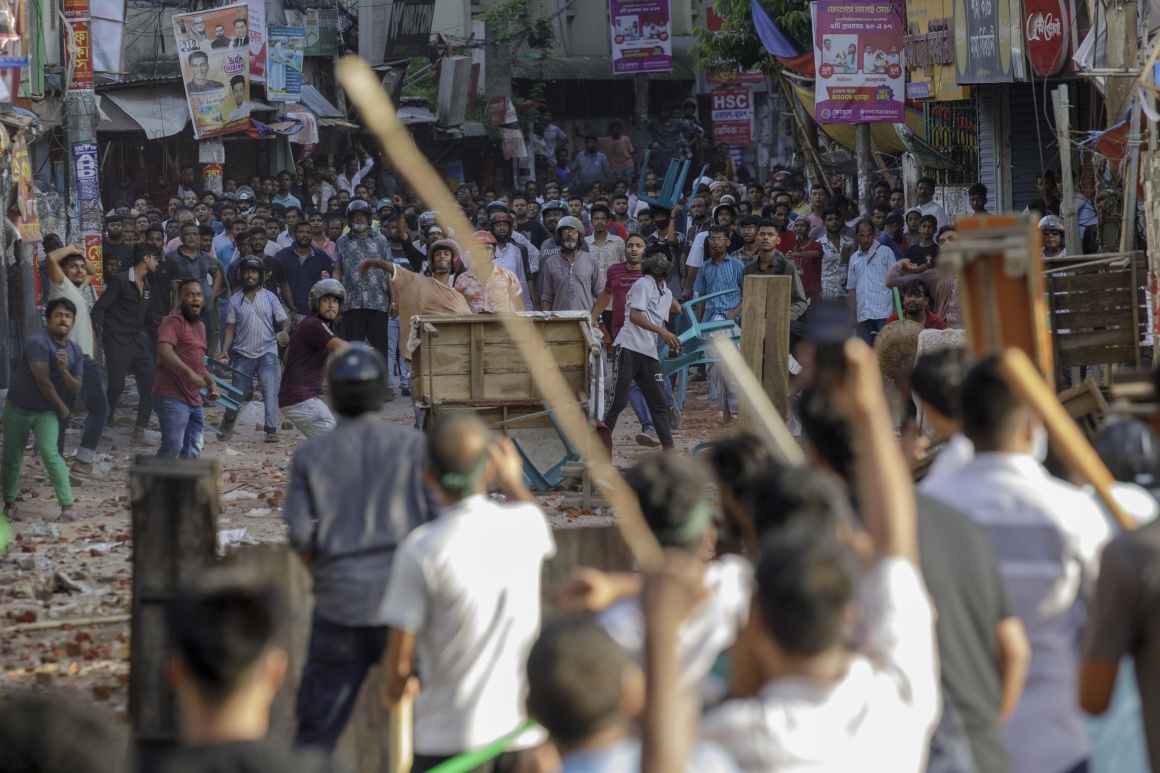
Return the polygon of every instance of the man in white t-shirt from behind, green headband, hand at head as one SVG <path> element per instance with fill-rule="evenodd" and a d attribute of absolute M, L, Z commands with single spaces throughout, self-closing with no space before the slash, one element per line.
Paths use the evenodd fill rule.
<path fill-rule="evenodd" d="M 474 416 L 450 414 L 436 424 L 426 477 L 438 497 L 438 516 L 399 546 L 382 607 L 389 626 L 384 703 L 393 707 L 419 691 L 415 773 L 527 722 L 525 666 L 539 635 L 541 571 L 556 554 L 515 447 L 492 441 Z M 508 504 L 487 497 L 492 481 Z M 521 734 L 505 765 L 543 741 L 538 729 Z"/>

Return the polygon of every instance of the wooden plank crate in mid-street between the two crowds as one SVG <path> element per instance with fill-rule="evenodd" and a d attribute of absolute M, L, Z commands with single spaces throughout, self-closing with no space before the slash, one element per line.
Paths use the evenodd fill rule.
<path fill-rule="evenodd" d="M 525 319 L 528 328 L 534 327 L 544 339 L 570 392 L 578 400 L 588 399 L 593 341 L 588 318 L 536 315 Z M 412 355 L 412 384 L 425 406 L 483 407 L 543 399 L 532 368 L 552 363 L 545 359 L 529 367 L 498 317 L 420 317 L 419 331 L 420 346 Z"/>

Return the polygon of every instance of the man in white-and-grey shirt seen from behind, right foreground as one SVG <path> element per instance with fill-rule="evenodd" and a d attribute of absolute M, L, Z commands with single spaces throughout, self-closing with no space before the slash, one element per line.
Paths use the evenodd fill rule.
<path fill-rule="evenodd" d="M 923 493 L 986 529 L 1031 643 L 1023 698 L 1007 725 L 1012 773 L 1086 770 L 1079 643 L 1110 530 L 1090 497 L 1031 455 L 1038 418 L 1003 382 L 995 357 L 971 369 L 963 396 L 974 457 Z"/>

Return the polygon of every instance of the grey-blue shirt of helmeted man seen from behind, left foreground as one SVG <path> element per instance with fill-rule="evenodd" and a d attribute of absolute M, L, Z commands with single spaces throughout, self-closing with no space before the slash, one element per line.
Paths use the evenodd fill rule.
<path fill-rule="evenodd" d="M 383 626 L 394 549 L 435 516 L 427 438 L 371 414 L 298 447 L 283 508 L 290 547 L 313 554 L 314 604 L 342 626 Z"/>

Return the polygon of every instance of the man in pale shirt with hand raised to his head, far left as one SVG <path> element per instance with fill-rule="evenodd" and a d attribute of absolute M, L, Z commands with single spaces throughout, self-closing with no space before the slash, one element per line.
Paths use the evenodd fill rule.
<path fill-rule="evenodd" d="M 90 311 L 96 303 L 93 292 L 93 277 L 96 269 L 89 265 L 85 250 L 70 244 L 53 250 L 46 255 L 45 267 L 49 273 L 49 298 L 68 298 L 77 306 L 73 327 L 68 340 L 74 341 L 85 353 L 85 373 L 81 376 L 80 398 L 85 402 L 88 416 L 85 418 L 85 432 L 77 448 L 77 460 L 68 469 L 70 475 L 79 478 L 103 477 L 93 469 L 96 458 L 96 445 L 101 441 L 101 431 L 109 418 L 109 398 L 104 391 L 104 364 L 96 360 L 96 339 L 93 335 Z M 72 410 L 74 397 L 66 397 L 66 405 Z M 65 454 L 65 429 L 68 421 L 60 422 L 57 439 L 57 450 Z"/>

